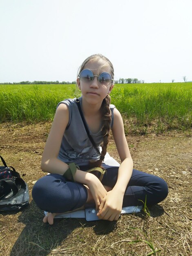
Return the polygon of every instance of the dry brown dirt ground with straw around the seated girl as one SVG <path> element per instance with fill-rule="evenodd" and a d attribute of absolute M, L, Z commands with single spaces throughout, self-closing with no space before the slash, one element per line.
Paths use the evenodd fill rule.
<path fill-rule="evenodd" d="M 162 177 L 167 198 L 117 222 L 59 219 L 42 223 L 43 212 L 31 197 L 51 123 L 0 124 L 0 155 L 27 182 L 30 204 L 18 213 L 0 214 L 0 256 L 192 255 L 192 138 L 190 133 L 127 136 L 134 168 Z M 117 161 L 114 141 L 108 152 Z M 1 164 L 0 164 L 1 165 Z"/>

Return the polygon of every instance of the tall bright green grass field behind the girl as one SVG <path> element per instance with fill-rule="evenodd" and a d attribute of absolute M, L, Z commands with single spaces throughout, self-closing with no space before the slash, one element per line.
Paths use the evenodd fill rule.
<path fill-rule="evenodd" d="M 58 102 L 78 96 L 76 85 L 0 85 L 0 121 L 51 121 Z M 116 84 L 111 97 L 125 133 L 192 128 L 192 83 Z"/>

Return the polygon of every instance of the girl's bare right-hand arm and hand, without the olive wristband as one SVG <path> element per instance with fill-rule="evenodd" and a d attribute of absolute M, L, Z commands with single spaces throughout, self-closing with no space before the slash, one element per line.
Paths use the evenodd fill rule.
<path fill-rule="evenodd" d="M 99 218 L 111 221 L 119 218 L 123 205 L 125 189 L 133 171 L 133 161 L 125 137 L 123 119 L 120 112 L 116 108 L 114 109 L 114 124 L 112 127 L 112 133 L 119 157 L 121 159 L 121 165 L 118 169 L 117 182 L 114 188 L 107 192 L 106 197 L 100 204 L 98 212 Z"/>

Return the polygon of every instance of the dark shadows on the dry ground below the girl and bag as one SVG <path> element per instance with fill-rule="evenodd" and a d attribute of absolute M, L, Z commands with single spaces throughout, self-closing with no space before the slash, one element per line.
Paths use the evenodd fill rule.
<path fill-rule="evenodd" d="M 150 207 L 152 217 L 161 216 L 164 213 L 160 205 Z M 14 215 L 16 213 L 9 213 Z M 2 213 L 6 216 L 7 214 Z M 145 213 L 141 211 L 135 214 L 141 219 L 145 218 Z M 45 224 L 42 222 L 43 211 L 38 209 L 35 202 L 32 200 L 28 207 L 22 210 L 18 217 L 18 222 L 25 225 L 18 239 L 11 249 L 10 256 L 32 256 L 40 255 L 47 256 L 49 253 L 54 253 L 54 250 L 61 248 L 65 243 L 65 253 L 70 253 L 78 239 L 82 242 L 80 234 L 86 232 L 86 236 L 107 235 L 113 232 L 117 227 L 117 222 L 108 222 L 105 220 L 87 222 L 82 218 L 74 219 L 55 219 L 54 225 Z M 85 229 L 91 227 L 91 229 Z M 70 241 L 73 239 L 73 242 Z M 52 254 L 51 254 L 52 255 Z M 58 254 L 59 255 L 59 254 Z"/>

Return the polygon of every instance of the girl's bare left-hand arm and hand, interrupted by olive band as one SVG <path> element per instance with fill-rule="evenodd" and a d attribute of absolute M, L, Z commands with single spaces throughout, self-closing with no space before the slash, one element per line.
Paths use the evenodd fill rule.
<path fill-rule="evenodd" d="M 69 122 L 69 110 L 65 104 L 60 104 L 56 110 L 54 121 L 47 138 L 45 148 L 42 154 L 41 169 L 48 173 L 57 173 L 63 175 L 69 168 L 68 164 L 59 160 L 58 153 L 60 150 L 63 134 Z M 107 194 L 107 191 L 92 173 L 77 170 L 74 175 L 76 182 L 86 184 L 96 202 L 96 207 L 100 205 L 101 200 Z"/>

